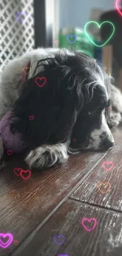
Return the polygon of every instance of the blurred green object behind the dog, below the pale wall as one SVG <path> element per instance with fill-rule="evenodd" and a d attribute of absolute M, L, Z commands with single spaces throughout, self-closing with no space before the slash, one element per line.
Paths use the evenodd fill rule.
<path fill-rule="evenodd" d="M 78 50 L 94 58 L 94 45 L 81 28 L 62 28 L 59 32 L 59 47 Z"/>

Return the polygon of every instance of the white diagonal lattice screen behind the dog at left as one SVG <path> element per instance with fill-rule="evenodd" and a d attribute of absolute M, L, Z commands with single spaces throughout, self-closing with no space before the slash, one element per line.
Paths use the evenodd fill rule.
<path fill-rule="evenodd" d="M 33 0 L 0 0 L 0 72 L 9 60 L 33 48 Z"/>

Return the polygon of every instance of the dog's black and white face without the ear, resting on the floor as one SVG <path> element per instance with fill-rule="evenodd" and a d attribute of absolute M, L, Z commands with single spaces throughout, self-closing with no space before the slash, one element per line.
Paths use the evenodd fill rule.
<path fill-rule="evenodd" d="M 114 139 L 105 118 L 110 105 L 111 77 L 88 56 L 84 69 L 83 108 L 79 111 L 72 129 L 69 150 L 106 150 L 113 147 Z"/>

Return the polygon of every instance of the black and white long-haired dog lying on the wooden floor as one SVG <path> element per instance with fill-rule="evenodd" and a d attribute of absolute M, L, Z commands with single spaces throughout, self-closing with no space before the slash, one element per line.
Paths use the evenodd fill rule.
<path fill-rule="evenodd" d="M 35 83 L 37 77 L 46 78 L 43 87 Z M 12 130 L 31 143 L 25 161 L 31 169 L 43 169 L 63 163 L 68 153 L 113 147 L 109 127 L 121 121 L 122 95 L 113 86 L 111 92 L 110 77 L 94 58 L 72 50 L 37 49 L 10 61 L 2 72 L 0 118 L 9 109 Z"/>

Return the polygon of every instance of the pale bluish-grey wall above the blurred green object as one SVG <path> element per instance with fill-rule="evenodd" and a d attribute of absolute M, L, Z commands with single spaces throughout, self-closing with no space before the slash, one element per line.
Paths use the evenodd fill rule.
<path fill-rule="evenodd" d="M 91 16 L 91 9 L 115 9 L 116 0 L 60 0 L 60 28 L 83 28 Z"/>

